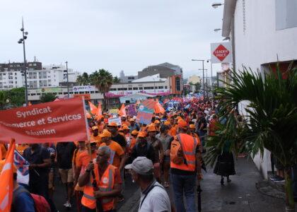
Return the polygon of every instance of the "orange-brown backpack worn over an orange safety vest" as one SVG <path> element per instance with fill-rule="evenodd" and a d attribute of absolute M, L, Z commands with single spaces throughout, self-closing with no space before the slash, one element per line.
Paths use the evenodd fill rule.
<path fill-rule="evenodd" d="M 184 153 L 182 151 L 182 143 L 180 135 L 177 134 L 170 145 L 170 161 L 177 165 L 184 163 Z"/>

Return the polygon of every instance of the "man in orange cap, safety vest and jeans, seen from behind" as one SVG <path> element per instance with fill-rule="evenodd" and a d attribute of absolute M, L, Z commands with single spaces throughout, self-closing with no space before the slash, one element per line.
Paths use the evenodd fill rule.
<path fill-rule="evenodd" d="M 199 180 L 202 179 L 198 141 L 187 134 L 187 129 L 187 122 L 183 119 L 178 120 L 177 136 L 169 146 L 171 182 L 177 212 L 185 211 L 185 209 L 190 212 L 196 211 L 194 195 L 196 176 Z M 184 193 L 187 208 L 184 206 Z"/>

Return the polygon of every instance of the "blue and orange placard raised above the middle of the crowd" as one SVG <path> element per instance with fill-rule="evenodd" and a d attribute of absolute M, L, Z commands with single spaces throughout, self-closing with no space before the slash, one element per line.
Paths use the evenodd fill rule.
<path fill-rule="evenodd" d="M 150 124 L 153 112 L 155 110 L 156 102 L 152 100 L 145 100 L 139 105 L 136 120 L 141 124 Z"/>

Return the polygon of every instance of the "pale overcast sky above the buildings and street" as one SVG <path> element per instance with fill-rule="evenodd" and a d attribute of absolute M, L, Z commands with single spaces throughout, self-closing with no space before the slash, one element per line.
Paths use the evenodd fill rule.
<path fill-rule="evenodd" d="M 1 0 L 0 63 L 23 61 L 21 17 L 28 30 L 27 60 L 69 62 L 75 71 L 136 74 L 170 62 L 185 76 L 199 73 L 210 43 L 221 42 L 223 7 L 209 0 Z M 209 65 L 205 65 L 209 69 Z M 219 66 L 215 66 L 215 71 Z M 200 71 L 201 73 L 201 71 Z M 210 71 L 209 71 L 210 73 Z"/>

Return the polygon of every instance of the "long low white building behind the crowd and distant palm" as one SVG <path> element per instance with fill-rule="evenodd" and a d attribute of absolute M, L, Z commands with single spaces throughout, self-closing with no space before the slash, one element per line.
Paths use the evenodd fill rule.
<path fill-rule="evenodd" d="M 170 76 L 168 78 L 160 78 L 159 74 L 139 78 L 131 83 L 115 83 L 111 86 L 110 91 L 105 93 L 105 97 L 109 100 L 110 105 L 117 105 L 120 97 L 146 93 L 155 96 L 168 96 L 182 94 L 182 81 L 180 75 Z M 28 90 L 28 100 L 38 101 L 42 93 L 53 93 L 58 98 L 67 97 L 66 87 L 55 88 L 32 88 Z M 69 97 L 76 95 L 84 95 L 86 99 L 92 100 L 94 103 L 102 102 L 104 96 L 95 86 L 73 86 L 69 88 Z"/>

